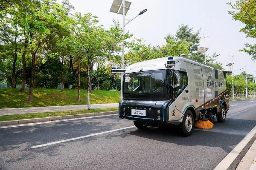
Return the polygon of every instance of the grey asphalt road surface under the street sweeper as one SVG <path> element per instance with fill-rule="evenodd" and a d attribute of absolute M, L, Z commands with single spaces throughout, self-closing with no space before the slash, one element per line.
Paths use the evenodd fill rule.
<path fill-rule="evenodd" d="M 212 170 L 256 125 L 255 99 L 230 106 L 226 122 L 189 137 L 118 115 L 0 127 L 0 169 Z"/>

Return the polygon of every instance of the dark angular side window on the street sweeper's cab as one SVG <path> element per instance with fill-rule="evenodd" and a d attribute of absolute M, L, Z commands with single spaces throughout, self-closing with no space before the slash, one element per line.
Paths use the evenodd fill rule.
<path fill-rule="evenodd" d="M 184 71 L 175 70 L 173 73 L 175 98 L 179 96 L 188 85 L 188 75 Z"/>

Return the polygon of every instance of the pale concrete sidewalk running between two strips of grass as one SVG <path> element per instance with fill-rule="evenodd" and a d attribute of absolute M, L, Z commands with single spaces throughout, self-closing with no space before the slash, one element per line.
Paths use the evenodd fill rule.
<path fill-rule="evenodd" d="M 118 107 L 119 103 L 94 104 L 90 108 L 113 108 Z M 55 111 L 73 111 L 87 109 L 87 105 L 70 105 L 70 106 L 49 106 L 49 107 L 32 107 L 32 108 L 6 108 L 0 109 L 0 115 L 23 114 L 23 113 L 43 113 Z"/>

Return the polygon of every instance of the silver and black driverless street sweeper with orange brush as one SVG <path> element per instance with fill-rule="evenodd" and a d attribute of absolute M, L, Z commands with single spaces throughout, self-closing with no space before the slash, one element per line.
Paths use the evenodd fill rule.
<path fill-rule="evenodd" d="M 194 126 L 211 128 L 215 117 L 225 122 L 230 71 L 169 56 L 111 72 L 123 73 L 119 118 L 133 120 L 139 129 L 178 125 L 183 136 L 190 136 Z"/>

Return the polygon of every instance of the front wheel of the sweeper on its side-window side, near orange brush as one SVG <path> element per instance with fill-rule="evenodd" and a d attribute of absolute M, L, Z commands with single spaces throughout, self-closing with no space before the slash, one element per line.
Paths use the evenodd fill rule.
<path fill-rule="evenodd" d="M 180 123 L 180 133 L 182 136 L 190 136 L 194 128 L 194 117 L 191 111 L 186 111 L 182 123 Z"/>

